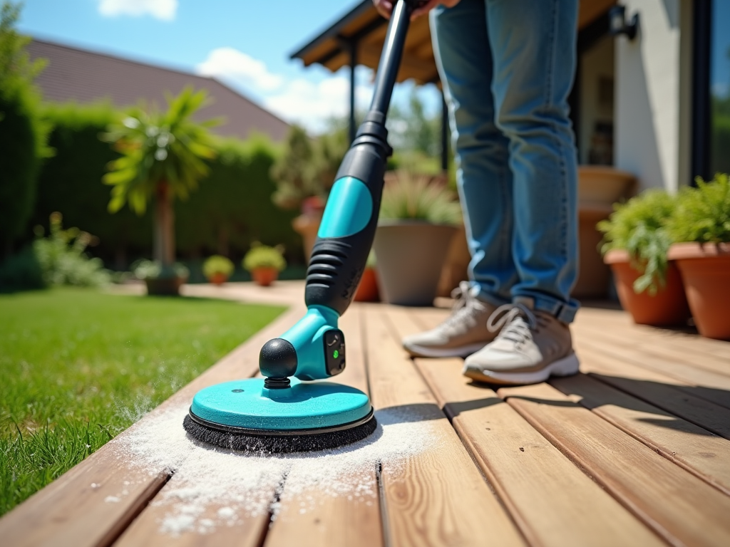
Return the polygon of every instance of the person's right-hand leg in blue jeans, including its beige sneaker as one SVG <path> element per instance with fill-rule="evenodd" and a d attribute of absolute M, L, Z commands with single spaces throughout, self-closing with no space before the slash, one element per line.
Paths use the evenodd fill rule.
<path fill-rule="evenodd" d="M 504 384 L 578 371 L 568 323 L 577 275 L 577 168 L 567 97 L 577 0 L 486 0 L 496 125 L 510 141 L 518 282 L 490 317 L 499 335 L 464 374 Z"/>

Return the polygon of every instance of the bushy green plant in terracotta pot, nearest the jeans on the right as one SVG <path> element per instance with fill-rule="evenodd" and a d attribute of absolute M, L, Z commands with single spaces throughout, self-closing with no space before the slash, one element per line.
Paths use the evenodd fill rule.
<path fill-rule="evenodd" d="M 682 280 L 666 258 L 671 238 L 665 225 L 675 198 L 664 190 L 646 190 L 614 209 L 596 227 L 604 233 L 601 251 L 623 309 L 640 325 L 684 325 L 689 307 Z"/>

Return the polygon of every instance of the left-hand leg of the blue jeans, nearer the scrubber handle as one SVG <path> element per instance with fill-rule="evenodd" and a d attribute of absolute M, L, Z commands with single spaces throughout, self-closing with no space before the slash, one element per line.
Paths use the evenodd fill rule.
<path fill-rule="evenodd" d="M 512 173 L 507 139 L 494 123 L 492 51 L 484 0 L 461 0 L 431 12 L 434 55 L 449 108 L 456 180 L 472 255 L 469 279 L 479 298 L 510 301 Z"/>

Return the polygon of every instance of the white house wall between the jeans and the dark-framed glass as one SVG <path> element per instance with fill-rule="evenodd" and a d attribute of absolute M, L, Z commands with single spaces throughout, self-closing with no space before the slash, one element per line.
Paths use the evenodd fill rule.
<path fill-rule="evenodd" d="M 688 69 L 691 40 L 682 30 L 691 28 L 691 0 L 623 4 L 627 18 L 638 11 L 640 22 L 636 39 L 615 40 L 615 165 L 636 174 L 642 188 L 674 191 L 688 182 L 689 96 L 681 80 Z"/>

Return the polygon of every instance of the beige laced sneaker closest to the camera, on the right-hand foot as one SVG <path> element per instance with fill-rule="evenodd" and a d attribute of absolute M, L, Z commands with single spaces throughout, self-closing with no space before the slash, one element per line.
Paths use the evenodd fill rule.
<path fill-rule="evenodd" d="M 535 310 L 531 298 L 499 306 L 487 327 L 499 330 L 499 335 L 466 358 L 464 376 L 492 384 L 537 384 L 550 375 L 570 376 L 578 371 L 568 325 Z"/>

